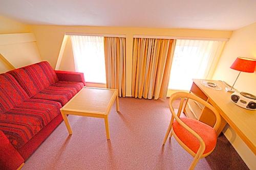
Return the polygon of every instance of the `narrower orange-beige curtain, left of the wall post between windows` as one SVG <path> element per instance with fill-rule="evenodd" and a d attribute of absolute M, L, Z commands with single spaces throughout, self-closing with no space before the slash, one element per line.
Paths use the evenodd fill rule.
<path fill-rule="evenodd" d="M 125 97 L 125 38 L 104 37 L 106 87 Z"/>

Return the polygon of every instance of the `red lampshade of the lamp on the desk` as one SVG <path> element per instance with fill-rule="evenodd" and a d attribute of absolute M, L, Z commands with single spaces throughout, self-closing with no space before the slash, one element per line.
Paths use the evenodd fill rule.
<path fill-rule="evenodd" d="M 230 68 L 243 71 L 243 72 L 254 72 L 256 66 L 256 60 L 245 57 L 238 57 Z"/>

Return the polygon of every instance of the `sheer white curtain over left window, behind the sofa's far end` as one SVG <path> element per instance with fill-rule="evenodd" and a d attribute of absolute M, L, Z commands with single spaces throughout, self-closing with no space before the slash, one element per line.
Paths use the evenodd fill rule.
<path fill-rule="evenodd" d="M 72 35 L 71 42 L 76 71 L 86 82 L 105 84 L 104 37 Z"/>

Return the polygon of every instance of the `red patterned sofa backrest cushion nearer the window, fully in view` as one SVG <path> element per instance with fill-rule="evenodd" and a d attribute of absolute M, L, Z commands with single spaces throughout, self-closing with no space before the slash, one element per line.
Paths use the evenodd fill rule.
<path fill-rule="evenodd" d="M 28 93 L 29 97 L 56 83 L 58 78 L 46 61 L 8 71 Z"/>

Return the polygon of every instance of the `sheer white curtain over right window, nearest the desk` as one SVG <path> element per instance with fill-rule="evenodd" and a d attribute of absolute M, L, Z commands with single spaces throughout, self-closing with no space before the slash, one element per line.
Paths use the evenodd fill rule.
<path fill-rule="evenodd" d="M 189 90 L 192 79 L 211 78 L 224 41 L 181 40 L 176 41 L 169 89 Z"/>

